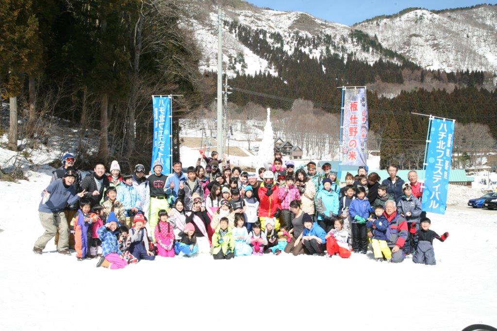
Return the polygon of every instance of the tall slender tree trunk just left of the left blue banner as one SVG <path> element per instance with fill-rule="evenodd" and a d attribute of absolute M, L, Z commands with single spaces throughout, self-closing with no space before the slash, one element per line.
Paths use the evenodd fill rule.
<path fill-rule="evenodd" d="M 138 100 L 138 72 L 140 69 L 140 54 L 142 52 L 142 28 L 144 17 L 140 14 L 135 24 L 134 38 L 134 61 L 133 61 L 133 79 L 131 81 L 131 95 L 128 118 L 128 152 L 133 153 L 135 150 L 135 111 Z"/>

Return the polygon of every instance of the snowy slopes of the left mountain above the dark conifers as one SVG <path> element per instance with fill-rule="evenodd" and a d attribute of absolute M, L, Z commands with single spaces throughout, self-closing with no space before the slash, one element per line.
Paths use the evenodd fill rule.
<path fill-rule="evenodd" d="M 268 72 L 277 76 L 276 70 L 267 59 L 256 55 L 244 45 L 236 33 L 230 32 L 226 24 L 235 22 L 249 27 L 252 31 L 262 30 L 277 38 L 268 37 L 276 48 L 292 54 L 296 47 L 301 48 L 312 58 L 319 59 L 326 54 L 327 48 L 331 53 L 339 54 L 345 59 L 348 54 L 354 53 L 355 59 L 370 65 L 380 58 L 394 63 L 401 61 L 395 56 L 386 56 L 381 51 L 364 47 L 363 43 L 350 37 L 352 29 L 344 24 L 330 23 L 298 11 L 278 11 L 261 9 L 245 1 L 234 1 L 236 5 L 223 7 L 224 36 L 223 36 L 223 64 L 229 75 L 236 73 L 254 74 Z M 207 14 L 198 17 L 193 22 L 194 33 L 203 54 L 200 70 L 217 70 L 217 9 L 208 1 L 199 1 L 199 5 Z M 299 38 L 316 40 L 314 45 L 299 45 Z M 277 40 L 276 40 L 277 39 Z M 237 59 L 235 64 L 235 59 Z"/>

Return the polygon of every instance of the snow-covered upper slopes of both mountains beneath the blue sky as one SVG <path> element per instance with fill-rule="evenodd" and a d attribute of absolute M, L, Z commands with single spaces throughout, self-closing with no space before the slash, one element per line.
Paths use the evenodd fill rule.
<path fill-rule="evenodd" d="M 217 9 L 214 1 L 198 0 L 193 29 L 203 59 L 202 71 L 217 70 Z M 394 15 L 395 16 L 395 15 Z M 497 6 L 433 13 L 423 9 L 392 18 L 372 19 L 349 27 L 298 11 L 258 8 L 242 0 L 223 1 L 223 62 L 230 76 L 277 70 L 268 58 L 240 40 L 240 28 L 262 31 L 275 48 L 292 54 L 295 48 L 313 58 L 338 54 L 372 65 L 379 59 L 401 64 L 410 61 L 426 69 L 497 72 Z M 351 35 L 355 29 L 365 33 Z M 376 36 L 376 37 L 375 37 Z M 307 42 L 302 42 L 302 38 Z M 371 47 L 373 45 L 373 47 Z M 325 70 L 325 68 L 323 68 Z"/>

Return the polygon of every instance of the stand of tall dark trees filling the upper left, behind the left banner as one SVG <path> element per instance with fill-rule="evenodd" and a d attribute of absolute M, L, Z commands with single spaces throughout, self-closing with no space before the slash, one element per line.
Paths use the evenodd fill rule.
<path fill-rule="evenodd" d="M 52 116 L 70 120 L 82 137 L 98 130 L 97 154 L 81 145 L 80 160 L 143 160 L 151 95 L 184 96 L 174 101 L 177 128 L 209 91 L 192 32 L 181 26 L 194 14 L 191 2 L 0 1 L 0 94 L 13 123 L 22 120 L 15 131 L 10 125 L 8 147 L 17 149 L 19 132 L 46 140 L 43 119 Z"/>

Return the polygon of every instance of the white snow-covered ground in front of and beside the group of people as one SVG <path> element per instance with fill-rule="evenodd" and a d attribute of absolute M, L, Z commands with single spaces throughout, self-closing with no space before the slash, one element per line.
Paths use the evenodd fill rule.
<path fill-rule="evenodd" d="M 497 326 L 497 212 L 449 207 L 428 214 L 436 266 L 376 263 L 367 256 L 160 258 L 122 270 L 61 256 L 43 229 L 40 192 L 49 168 L 0 182 L 0 330 L 462 330 Z M 384 321 L 384 322 L 381 322 Z M 388 322 L 385 322 L 388 321 Z M 224 327 L 223 327 L 224 326 Z"/>

